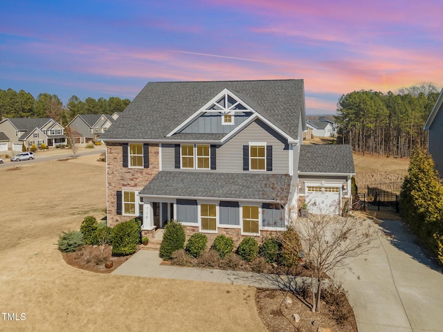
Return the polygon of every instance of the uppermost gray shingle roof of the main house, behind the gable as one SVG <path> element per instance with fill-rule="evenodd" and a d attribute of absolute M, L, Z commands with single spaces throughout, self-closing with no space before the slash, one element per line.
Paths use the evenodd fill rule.
<path fill-rule="evenodd" d="M 298 139 L 300 112 L 303 118 L 305 113 L 303 80 L 151 82 L 102 139 L 161 140 L 224 89 Z"/>

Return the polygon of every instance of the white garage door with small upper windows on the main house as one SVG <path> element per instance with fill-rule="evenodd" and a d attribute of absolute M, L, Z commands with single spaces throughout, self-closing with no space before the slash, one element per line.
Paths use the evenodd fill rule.
<path fill-rule="evenodd" d="M 309 213 L 340 214 L 340 187 L 307 186 Z"/>

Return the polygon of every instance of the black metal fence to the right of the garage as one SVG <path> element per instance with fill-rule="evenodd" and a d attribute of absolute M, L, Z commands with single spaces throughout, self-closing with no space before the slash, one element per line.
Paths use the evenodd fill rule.
<path fill-rule="evenodd" d="M 400 212 L 399 195 L 393 192 L 368 187 L 368 193 L 354 197 L 355 210 Z"/>

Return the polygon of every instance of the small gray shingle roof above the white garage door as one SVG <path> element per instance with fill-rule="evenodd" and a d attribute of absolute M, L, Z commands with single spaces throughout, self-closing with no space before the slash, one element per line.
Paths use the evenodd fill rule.
<path fill-rule="evenodd" d="M 298 172 L 354 174 L 351 146 L 302 145 Z"/>

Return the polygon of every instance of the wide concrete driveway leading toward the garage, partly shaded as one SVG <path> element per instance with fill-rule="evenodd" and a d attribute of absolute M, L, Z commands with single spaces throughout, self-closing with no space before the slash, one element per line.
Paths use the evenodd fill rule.
<path fill-rule="evenodd" d="M 442 268 L 402 221 L 380 226 L 388 236 L 381 234 L 377 248 L 336 275 L 349 292 L 359 332 L 443 331 Z"/>

